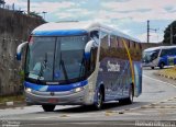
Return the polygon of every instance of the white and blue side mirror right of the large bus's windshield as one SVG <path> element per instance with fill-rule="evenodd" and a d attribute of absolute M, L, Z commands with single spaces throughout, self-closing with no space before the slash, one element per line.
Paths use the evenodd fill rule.
<path fill-rule="evenodd" d="M 89 41 L 86 44 L 86 47 L 85 47 L 85 58 L 86 59 L 90 58 L 90 51 L 91 51 L 91 48 L 94 47 L 94 44 L 95 44 L 95 41 Z"/>

